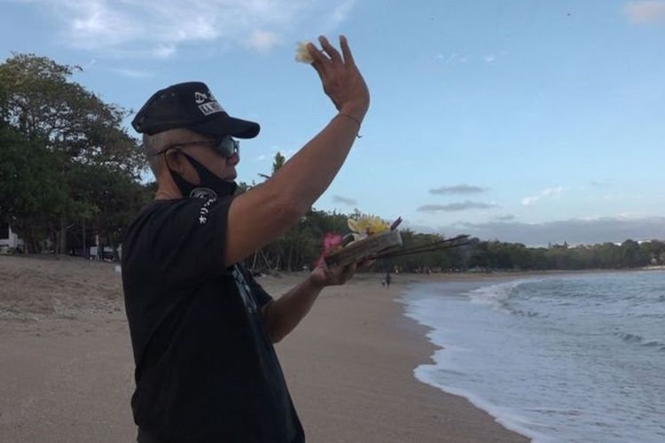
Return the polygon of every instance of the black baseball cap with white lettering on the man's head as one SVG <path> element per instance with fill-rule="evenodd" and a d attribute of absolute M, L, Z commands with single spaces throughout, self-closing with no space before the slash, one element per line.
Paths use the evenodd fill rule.
<path fill-rule="evenodd" d="M 259 124 L 231 117 L 205 83 L 186 82 L 160 89 L 148 98 L 131 126 L 152 136 L 173 128 L 188 128 L 206 136 L 253 138 Z"/>

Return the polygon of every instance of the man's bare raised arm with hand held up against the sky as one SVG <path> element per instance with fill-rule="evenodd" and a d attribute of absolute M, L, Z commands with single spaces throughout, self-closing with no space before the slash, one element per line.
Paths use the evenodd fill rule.
<path fill-rule="evenodd" d="M 229 209 L 224 263 L 229 266 L 292 228 L 324 193 L 358 133 L 370 94 L 345 37 L 341 54 L 325 37 L 309 43 L 312 66 L 338 114 L 265 183 L 235 198 Z"/>

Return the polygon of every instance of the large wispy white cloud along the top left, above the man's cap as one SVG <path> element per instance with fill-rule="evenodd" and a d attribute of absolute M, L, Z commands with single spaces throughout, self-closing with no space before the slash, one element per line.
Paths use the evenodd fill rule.
<path fill-rule="evenodd" d="M 20 0 L 15 0 L 20 1 Z M 184 43 L 244 44 L 269 51 L 303 23 L 340 25 L 354 1 L 31 0 L 67 45 L 114 57 L 168 58 Z M 327 21 L 317 23 L 325 17 Z"/>

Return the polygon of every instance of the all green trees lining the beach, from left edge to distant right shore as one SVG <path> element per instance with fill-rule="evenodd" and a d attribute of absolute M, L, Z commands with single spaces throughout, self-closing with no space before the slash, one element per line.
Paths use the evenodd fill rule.
<path fill-rule="evenodd" d="M 138 140 L 122 121 L 129 111 L 108 104 L 73 76 L 82 69 L 50 58 L 14 54 L 0 64 L 0 222 L 25 241 L 25 252 L 88 255 L 91 245 L 115 250 L 124 229 L 149 204 L 155 183 Z M 272 173 L 285 162 L 278 153 Z M 270 175 L 262 175 L 268 179 Z M 254 183 L 239 183 L 239 192 Z M 247 259 L 251 268 L 311 268 L 326 232 L 348 232 L 349 217 L 312 208 L 298 225 Z M 402 229 L 404 245 L 441 235 Z M 397 257 L 380 271 L 457 272 L 490 269 L 638 268 L 665 264 L 665 244 L 525 245 L 474 238 L 464 247 Z"/>

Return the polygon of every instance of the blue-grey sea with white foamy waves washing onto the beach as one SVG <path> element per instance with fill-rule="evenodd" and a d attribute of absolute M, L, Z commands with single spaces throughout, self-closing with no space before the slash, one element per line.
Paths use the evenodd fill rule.
<path fill-rule="evenodd" d="M 665 272 L 419 284 L 420 381 L 536 442 L 665 441 Z"/>

